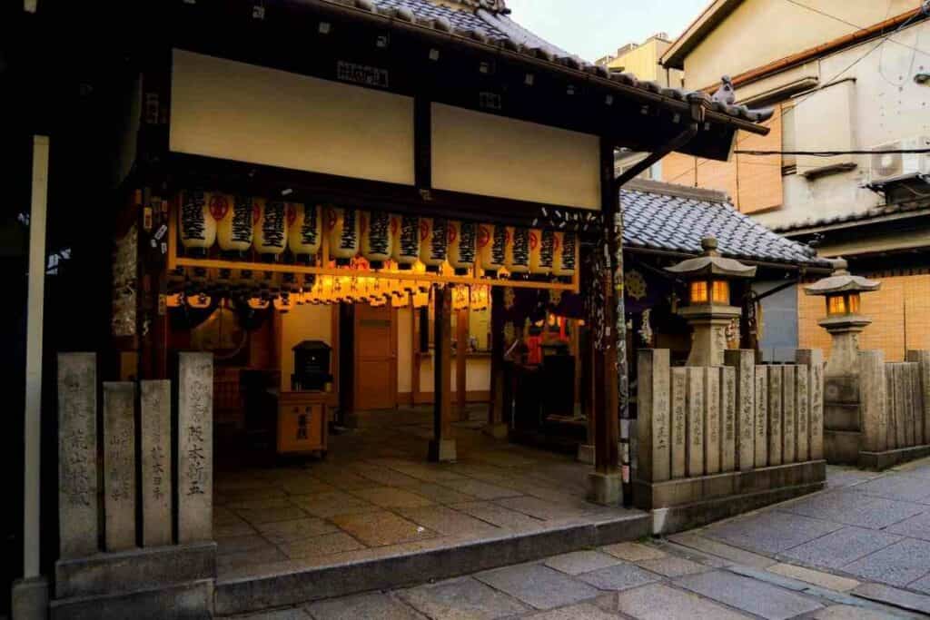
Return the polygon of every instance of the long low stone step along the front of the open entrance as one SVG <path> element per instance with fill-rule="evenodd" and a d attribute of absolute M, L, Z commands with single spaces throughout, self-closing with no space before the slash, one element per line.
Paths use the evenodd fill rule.
<path fill-rule="evenodd" d="M 288 573 L 219 580 L 218 616 L 260 612 L 312 600 L 394 587 L 415 586 L 501 566 L 535 561 L 649 534 L 648 514 L 618 510 L 618 517 L 561 525 L 529 534 L 498 536 L 430 550 Z"/>

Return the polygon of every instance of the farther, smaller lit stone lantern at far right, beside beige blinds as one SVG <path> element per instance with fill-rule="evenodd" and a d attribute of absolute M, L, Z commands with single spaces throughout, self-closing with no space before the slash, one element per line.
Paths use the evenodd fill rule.
<path fill-rule="evenodd" d="M 826 375 L 854 376 L 858 368 L 859 334 L 871 324 L 869 317 L 859 314 L 859 296 L 877 291 L 882 283 L 851 275 L 843 258 L 830 262 L 832 275 L 805 286 L 804 292 L 827 300 L 827 317 L 819 322 L 833 338 Z"/>

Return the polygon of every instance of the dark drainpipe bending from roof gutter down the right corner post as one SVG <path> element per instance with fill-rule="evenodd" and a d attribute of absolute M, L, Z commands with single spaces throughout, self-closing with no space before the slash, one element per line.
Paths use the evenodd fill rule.
<path fill-rule="evenodd" d="M 632 505 L 631 481 L 631 454 L 630 454 L 630 374 L 627 364 L 627 319 L 624 304 L 624 277 L 623 277 L 623 209 L 620 207 L 620 189 L 631 179 L 636 178 L 650 166 L 673 151 L 684 147 L 697 136 L 698 128 L 704 124 L 706 109 L 699 103 L 691 104 L 691 122 L 688 127 L 670 142 L 661 146 L 657 151 L 650 153 L 642 162 L 633 165 L 629 170 L 614 179 L 615 200 L 612 213 L 605 213 L 606 222 L 614 222 L 614 230 L 607 234 L 607 252 L 610 257 L 610 270 L 613 273 L 614 313 L 617 339 L 617 404 L 620 416 L 620 471 L 623 481 L 623 504 Z"/>

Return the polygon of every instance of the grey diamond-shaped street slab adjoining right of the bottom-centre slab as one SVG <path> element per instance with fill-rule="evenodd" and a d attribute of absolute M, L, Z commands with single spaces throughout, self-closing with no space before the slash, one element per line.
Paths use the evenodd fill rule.
<path fill-rule="evenodd" d="M 593 587 L 542 564 L 519 564 L 474 576 L 538 609 L 562 607 L 599 594 Z"/>

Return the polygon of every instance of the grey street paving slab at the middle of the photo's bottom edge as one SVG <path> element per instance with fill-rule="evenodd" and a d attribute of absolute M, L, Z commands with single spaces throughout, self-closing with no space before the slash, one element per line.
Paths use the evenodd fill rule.
<path fill-rule="evenodd" d="M 490 620 L 528 609 L 472 577 L 414 587 L 399 592 L 398 596 L 431 618 Z"/>

